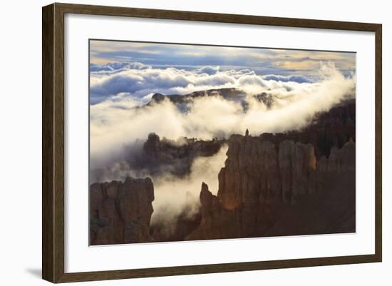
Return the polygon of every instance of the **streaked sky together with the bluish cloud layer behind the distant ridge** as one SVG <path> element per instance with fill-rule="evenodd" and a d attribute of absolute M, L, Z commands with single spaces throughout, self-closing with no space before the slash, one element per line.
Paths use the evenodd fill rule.
<path fill-rule="evenodd" d="M 356 54 L 127 41 L 90 41 L 90 99 L 128 96 L 145 103 L 153 93 L 185 94 L 262 81 L 313 83 L 330 63 L 355 73 Z"/>

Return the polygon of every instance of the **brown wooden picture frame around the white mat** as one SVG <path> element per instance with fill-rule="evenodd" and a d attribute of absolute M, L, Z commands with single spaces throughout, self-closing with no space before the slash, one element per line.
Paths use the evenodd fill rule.
<path fill-rule="evenodd" d="M 314 257 L 292 260 L 234 262 L 215 265 L 185 265 L 96 272 L 64 272 L 64 16 L 65 14 L 130 16 L 150 19 L 173 19 L 254 24 L 315 29 L 370 31 L 375 33 L 376 51 L 376 185 L 375 185 L 375 253 L 339 257 Z M 266 270 L 285 267 L 342 265 L 381 262 L 381 86 L 382 26 L 343 21 L 289 19 L 265 16 L 213 14 L 190 11 L 120 8 L 77 4 L 51 4 L 42 10 L 42 277 L 50 282 L 110 280 L 133 277 L 156 277 L 211 272 Z"/>

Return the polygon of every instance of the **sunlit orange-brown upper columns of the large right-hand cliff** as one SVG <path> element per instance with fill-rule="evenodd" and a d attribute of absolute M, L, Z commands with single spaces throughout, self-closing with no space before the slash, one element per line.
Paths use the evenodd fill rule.
<path fill-rule="evenodd" d="M 239 205 L 295 203 L 312 193 L 316 156 L 311 144 L 283 141 L 279 153 L 262 137 L 234 135 L 229 140 L 225 168 L 219 174 L 218 198 L 222 207 Z"/>

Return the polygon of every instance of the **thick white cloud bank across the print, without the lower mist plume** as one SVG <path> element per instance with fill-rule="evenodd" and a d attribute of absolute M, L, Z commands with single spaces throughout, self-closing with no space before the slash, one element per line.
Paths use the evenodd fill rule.
<path fill-rule="evenodd" d="M 217 71 L 209 75 L 175 68 L 132 69 L 98 77 L 92 92 L 111 91 L 116 95 L 91 105 L 91 158 L 113 153 L 137 138 L 145 140 L 151 132 L 170 139 L 182 136 L 211 139 L 244 133 L 247 128 L 252 135 L 302 128 L 315 113 L 328 111 L 344 98 L 355 96 L 355 76 L 347 78 L 331 64 L 321 66 L 319 74 L 322 79 L 314 83 L 267 80 L 252 71 Z M 186 113 L 168 100 L 135 108 L 143 105 L 144 99 L 123 93 L 127 90 L 135 94 L 146 89 L 149 94 L 173 93 L 180 91 L 179 85 L 183 86 L 181 91 L 189 93 L 195 90 L 195 85 L 191 88 L 188 81 L 204 89 L 224 86 L 242 89 L 247 111 L 244 112 L 242 103 L 219 96 L 194 98 L 187 103 Z M 273 98 L 268 108 L 254 98 L 262 92 Z"/>

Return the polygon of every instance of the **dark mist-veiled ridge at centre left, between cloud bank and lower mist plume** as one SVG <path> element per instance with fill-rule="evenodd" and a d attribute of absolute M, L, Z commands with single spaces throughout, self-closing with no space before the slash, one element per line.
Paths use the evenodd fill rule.
<path fill-rule="evenodd" d="M 174 175 L 184 177 L 190 174 L 190 168 L 196 158 L 215 155 L 225 140 L 217 138 L 202 141 L 196 138 L 179 138 L 177 141 L 160 138 L 158 134 L 150 133 L 146 141 L 137 140 L 134 145 L 125 147 L 125 155 L 118 159 L 118 164 L 109 163 L 108 168 L 96 168 L 90 172 L 92 183 L 105 180 L 123 180 L 118 175 L 130 174 L 140 178 L 145 176 Z M 110 168 L 115 166 L 113 170 Z M 118 173 L 115 173 L 117 171 Z"/>

